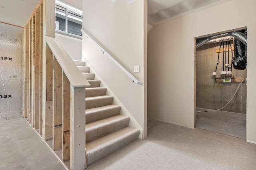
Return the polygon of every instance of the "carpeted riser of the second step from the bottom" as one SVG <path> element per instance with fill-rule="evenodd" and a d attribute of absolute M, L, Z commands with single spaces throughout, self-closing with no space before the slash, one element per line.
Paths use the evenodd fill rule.
<path fill-rule="evenodd" d="M 86 143 L 92 140 L 101 138 L 110 133 L 116 132 L 122 128 L 128 127 L 130 118 L 122 117 L 120 119 L 113 120 L 111 122 L 106 122 L 97 128 L 87 128 L 86 129 Z"/>

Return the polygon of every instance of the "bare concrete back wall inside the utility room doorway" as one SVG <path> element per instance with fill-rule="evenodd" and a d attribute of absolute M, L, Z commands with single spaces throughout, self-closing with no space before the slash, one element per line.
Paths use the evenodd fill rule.
<path fill-rule="evenodd" d="M 230 43 L 233 47 L 233 40 Z M 214 110 L 220 109 L 230 101 L 240 84 L 240 82 L 215 81 L 212 72 L 215 72 L 217 61 L 220 63 L 217 67 L 216 77 L 220 77 L 220 71 L 223 71 L 223 53 L 220 53 L 219 60 L 218 53 L 216 53 L 216 49 L 220 48 L 220 44 L 220 42 L 204 44 L 196 49 L 196 107 Z M 226 42 L 224 42 L 224 48 L 226 48 Z M 234 56 L 234 51 L 229 52 L 230 65 L 231 53 Z M 224 63 L 225 57 L 228 62 L 228 51 L 226 53 L 224 51 Z M 246 79 L 247 69 L 237 70 L 232 68 L 232 76 Z M 246 95 L 246 83 L 242 83 L 234 99 L 222 111 L 246 114 Z"/>

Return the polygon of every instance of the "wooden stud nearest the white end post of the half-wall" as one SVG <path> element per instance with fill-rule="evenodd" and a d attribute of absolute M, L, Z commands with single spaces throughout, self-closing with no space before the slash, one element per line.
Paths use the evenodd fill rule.
<path fill-rule="evenodd" d="M 68 81 L 68 77 L 64 72 L 63 72 L 62 85 L 63 85 L 62 161 L 67 161 L 67 160 L 70 160 L 70 82 Z"/>

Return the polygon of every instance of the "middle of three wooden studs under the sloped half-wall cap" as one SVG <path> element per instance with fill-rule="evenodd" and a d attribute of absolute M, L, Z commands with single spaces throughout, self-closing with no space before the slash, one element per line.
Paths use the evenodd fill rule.
<path fill-rule="evenodd" d="M 58 60 L 53 59 L 53 135 L 52 149 L 62 147 L 62 68 Z"/>

